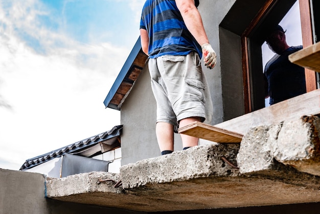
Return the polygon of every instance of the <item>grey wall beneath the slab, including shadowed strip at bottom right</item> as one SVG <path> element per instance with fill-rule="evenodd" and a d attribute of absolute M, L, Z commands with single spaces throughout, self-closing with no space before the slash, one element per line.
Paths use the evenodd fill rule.
<path fill-rule="evenodd" d="M 68 203 L 45 198 L 45 177 L 38 173 L 0 169 L 0 214 L 146 214 L 146 212 Z M 319 213 L 320 203 L 230 209 L 184 210 L 160 213 Z"/>

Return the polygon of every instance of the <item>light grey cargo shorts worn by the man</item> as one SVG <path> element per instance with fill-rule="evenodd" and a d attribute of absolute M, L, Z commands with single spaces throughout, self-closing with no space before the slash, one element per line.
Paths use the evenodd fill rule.
<path fill-rule="evenodd" d="M 148 67 L 157 104 L 157 122 L 178 127 L 178 122 L 185 118 L 205 120 L 204 74 L 197 53 L 150 58 Z"/>

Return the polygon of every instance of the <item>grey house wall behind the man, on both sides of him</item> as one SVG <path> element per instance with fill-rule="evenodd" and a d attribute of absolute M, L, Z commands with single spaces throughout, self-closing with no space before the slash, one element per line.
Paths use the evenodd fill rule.
<path fill-rule="evenodd" d="M 214 105 L 212 124 L 223 122 L 223 101 L 220 64 L 219 24 L 235 0 L 201 0 L 198 10 L 202 16 L 210 43 L 217 53 L 217 65 L 213 70 L 205 68 Z M 203 64 L 203 63 L 202 63 Z M 150 75 L 145 66 L 121 108 L 122 165 L 160 155 L 155 135 L 156 104 L 150 85 Z M 182 149 L 179 135 L 175 135 L 175 151 Z"/>

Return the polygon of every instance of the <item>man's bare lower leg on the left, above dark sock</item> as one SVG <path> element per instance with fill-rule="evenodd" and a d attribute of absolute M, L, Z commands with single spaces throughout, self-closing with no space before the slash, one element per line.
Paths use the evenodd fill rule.
<path fill-rule="evenodd" d="M 173 151 L 173 125 L 166 122 L 157 122 L 155 131 L 160 151 Z"/>

